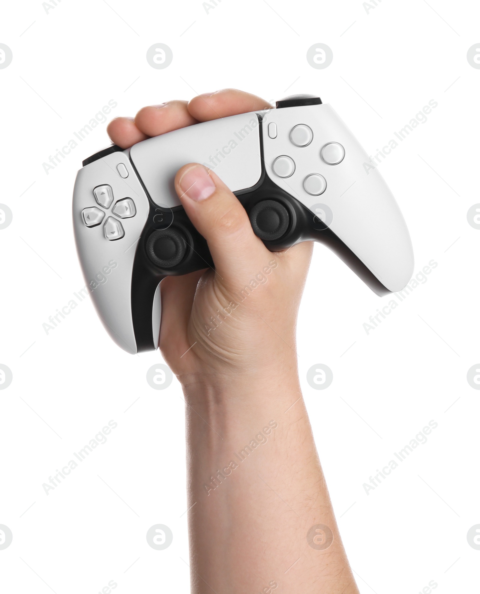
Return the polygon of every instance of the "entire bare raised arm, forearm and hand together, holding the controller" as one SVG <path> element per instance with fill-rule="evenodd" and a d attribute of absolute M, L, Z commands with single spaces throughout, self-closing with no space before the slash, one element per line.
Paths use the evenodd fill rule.
<path fill-rule="evenodd" d="M 128 147 L 268 108 L 223 90 L 143 108 L 108 131 Z M 178 171 L 175 188 L 215 264 L 161 284 L 160 348 L 187 403 L 192 593 L 280 585 L 291 594 L 358 594 L 298 380 L 295 326 L 312 244 L 270 252 L 235 195 L 198 163 Z M 325 550 L 308 542 L 318 525 L 333 534 Z"/>

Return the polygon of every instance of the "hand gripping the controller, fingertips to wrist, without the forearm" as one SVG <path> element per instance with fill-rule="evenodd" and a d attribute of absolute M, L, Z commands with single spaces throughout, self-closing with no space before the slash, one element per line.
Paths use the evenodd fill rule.
<path fill-rule="evenodd" d="M 197 122 L 270 107 L 260 97 L 226 89 L 188 103 L 143 108 L 134 119 L 114 119 L 108 132 L 114 143 L 128 147 Z M 296 316 L 311 242 L 270 252 L 235 195 L 204 166 L 182 167 L 175 189 L 208 242 L 215 270 L 163 280 L 160 349 L 165 361 L 180 378 L 296 367 Z"/>

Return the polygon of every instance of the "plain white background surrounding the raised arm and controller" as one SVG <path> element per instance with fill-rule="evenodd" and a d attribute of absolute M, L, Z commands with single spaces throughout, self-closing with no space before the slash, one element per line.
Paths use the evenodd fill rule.
<path fill-rule="evenodd" d="M 320 94 L 368 154 L 438 102 L 380 165 L 412 235 L 415 272 L 432 259 L 437 268 L 367 335 L 362 325 L 390 297 L 317 245 L 299 369 L 361 592 L 415 594 L 431 580 L 437 592 L 478 591 L 480 551 L 466 533 L 480 523 L 480 392 L 466 373 L 480 361 L 480 230 L 466 213 L 480 202 L 480 70 L 466 52 L 479 19 L 478 4 L 446 0 L 383 0 L 368 13 L 360 0 L 223 0 L 209 14 L 199 0 L 2 7 L 0 43 L 13 52 L 0 70 L 0 202 L 13 212 L 0 230 L 0 363 L 13 374 L 0 391 L 0 524 L 13 533 L 0 551 L 2 591 L 94 594 L 115 580 L 118 593 L 188 592 L 178 382 L 153 390 L 146 372 L 159 353 L 118 349 L 89 299 L 48 335 L 42 328 L 84 285 L 71 192 L 81 160 L 108 146 L 106 124 L 49 175 L 42 163 L 110 99 L 112 116 L 133 116 L 223 87 L 268 100 Z M 160 42 L 173 51 L 163 70 L 146 61 Z M 324 70 L 307 62 L 315 43 L 333 50 Z M 305 379 L 317 363 L 333 370 L 325 391 Z M 42 484 L 110 419 L 118 427 L 108 442 L 46 495 Z M 367 495 L 362 485 L 431 419 L 428 442 Z M 173 532 L 165 551 L 146 542 L 156 523 Z"/>

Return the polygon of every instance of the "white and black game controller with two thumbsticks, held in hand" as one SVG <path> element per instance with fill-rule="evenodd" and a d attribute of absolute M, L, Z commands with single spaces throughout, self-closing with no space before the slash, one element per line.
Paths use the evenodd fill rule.
<path fill-rule="evenodd" d="M 173 181 L 182 165 L 214 170 L 270 251 L 315 240 L 377 295 L 413 271 L 402 213 L 377 168 L 334 110 L 296 95 L 242 113 L 111 146 L 84 160 L 75 181 L 78 257 L 97 313 L 129 353 L 159 344 L 160 282 L 213 267 Z"/>

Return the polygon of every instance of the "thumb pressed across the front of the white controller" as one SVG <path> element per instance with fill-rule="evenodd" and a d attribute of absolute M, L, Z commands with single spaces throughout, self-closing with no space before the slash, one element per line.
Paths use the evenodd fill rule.
<path fill-rule="evenodd" d="M 190 163 L 178 170 L 175 189 L 192 224 L 209 245 L 223 279 L 266 266 L 269 250 L 253 232 L 238 198 L 213 171 Z"/>

